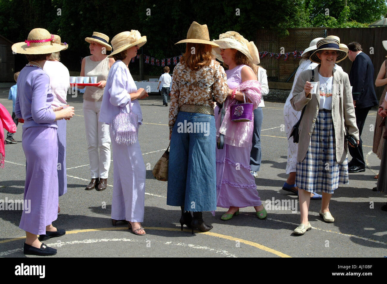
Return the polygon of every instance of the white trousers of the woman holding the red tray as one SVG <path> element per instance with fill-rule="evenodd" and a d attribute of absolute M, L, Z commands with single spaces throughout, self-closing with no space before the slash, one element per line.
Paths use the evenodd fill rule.
<path fill-rule="evenodd" d="M 109 125 L 98 121 L 101 104 L 102 102 L 83 100 L 87 152 L 92 179 L 97 177 L 107 179 L 110 167 Z"/>

